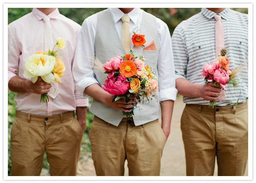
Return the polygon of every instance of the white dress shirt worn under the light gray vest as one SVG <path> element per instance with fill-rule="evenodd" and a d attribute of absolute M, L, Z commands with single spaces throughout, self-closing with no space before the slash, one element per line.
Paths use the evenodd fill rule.
<path fill-rule="evenodd" d="M 110 12 L 116 26 L 116 31 L 121 40 L 123 25 L 121 17 L 123 17 L 124 13 L 118 8 L 110 8 Z M 130 17 L 130 32 L 133 32 L 135 27 L 140 27 L 142 12 L 143 10 L 140 8 L 134 8 L 130 13 L 127 14 Z M 158 39 L 160 42 L 160 52 L 157 60 L 160 101 L 176 100 L 177 89 L 175 88 L 174 59 L 172 53 L 171 35 L 166 23 L 158 18 L 156 20 Z M 91 57 L 94 57 L 95 55 L 94 41 L 96 36 L 96 25 L 97 14 L 94 14 L 85 19 L 82 24 L 82 29 L 79 33 L 79 40 L 75 54 L 73 75 L 77 82 L 78 90 L 85 96 L 85 88 L 93 83 L 98 83 L 98 81 L 95 79 L 93 71 L 86 67 L 88 65 L 92 65 L 92 63 L 90 63 L 90 61 L 85 58 L 85 55 Z M 137 33 L 143 34 L 143 32 Z M 133 49 L 134 45 L 132 41 L 130 45 L 131 49 Z M 166 67 L 167 65 L 171 67 Z M 171 68 L 171 70 L 167 68 Z M 166 77 L 166 73 L 168 73 L 168 77 Z"/>

